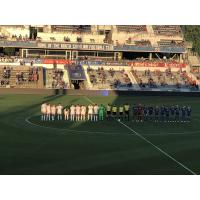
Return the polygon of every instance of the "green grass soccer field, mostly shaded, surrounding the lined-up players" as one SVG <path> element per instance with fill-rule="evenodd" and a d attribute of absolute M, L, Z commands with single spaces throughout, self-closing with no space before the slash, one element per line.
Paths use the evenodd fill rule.
<path fill-rule="evenodd" d="M 41 122 L 42 102 L 192 106 L 190 123 Z M 199 174 L 199 97 L 0 96 L 0 174 Z"/>

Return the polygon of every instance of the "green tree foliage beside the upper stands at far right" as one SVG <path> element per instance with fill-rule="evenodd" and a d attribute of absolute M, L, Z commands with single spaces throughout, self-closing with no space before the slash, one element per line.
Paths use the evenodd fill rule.
<path fill-rule="evenodd" d="M 193 43 L 193 50 L 200 55 L 200 26 L 185 25 L 182 26 L 186 41 Z"/>

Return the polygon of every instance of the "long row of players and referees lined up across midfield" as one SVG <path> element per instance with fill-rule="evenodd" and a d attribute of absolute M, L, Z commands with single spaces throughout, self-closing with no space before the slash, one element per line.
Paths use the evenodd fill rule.
<path fill-rule="evenodd" d="M 104 106 L 103 104 L 90 104 L 90 105 L 70 105 L 65 108 L 61 105 L 51 105 L 43 103 L 41 105 L 41 120 L 42 121 L 54 121 L 57 116 L 57 120 L 70 121 L 98 121 L 118 119 L 118 120 L 130 120 L 130 105 L 128 103 L 124 105 L 111 105 Z M 191 106 L 144 106 L 141 104 L 134 105 L 132 107 L 132 119 L 134 121 L 190 121 L 191 119 Z"/>

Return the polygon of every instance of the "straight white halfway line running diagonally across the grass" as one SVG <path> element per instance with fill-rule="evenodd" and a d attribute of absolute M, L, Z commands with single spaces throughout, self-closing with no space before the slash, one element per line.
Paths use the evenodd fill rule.
<path fill-rule="evenodd" d="M 86 99 L 88 99 L 88 101 L 90 101 L 91 103 L 94 103 L 87 96 L 86 96 Z M 175 158 L 173 158 L 168 153 L 166 153 L 165 151 L 163 151 L 160 147 L 158 147 L 157 145 L 153 144 L 151 141 L 149 141 L 148 139 L 146 139 L 144 136 L 142 136 L 141 134 L 139 134 L 138 132 L 136 132 L 135 130 L 133 130 L 131 127 L 127 126 L 126 124 L 124 124 L 121 121 L 118 121 L 118 122 L 120 124 L 122 124 L 124 127 L 126 127 L 127 129 L 129 129 L 130 131 L 132 131 L 133 133 L 135 133 L 135 135 L 138 136 L 140 139 L 144 140 L 145 142 L 147 142 L 148 144 L 150 144 L 151 146 L 153 146 L 155 149 L 157 149 L 158 151 L 160 151 L 162 154 L 164 154 L 165 156 L 167 156 L 168 158 L 170 158 L 171 160 L 173 160 L 175 163 L 177 163 L 178 165 L 180 165 L 181 167 L 183 167 L 185 170 L 187 170 L 188 172 L 190 172 L 193 175 L 197 175 L 194 171 L 192 171 L 191 169 L 189 169 L 188 167 L 186 167 L 181 162 L 177 161 Z"/>

